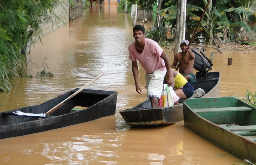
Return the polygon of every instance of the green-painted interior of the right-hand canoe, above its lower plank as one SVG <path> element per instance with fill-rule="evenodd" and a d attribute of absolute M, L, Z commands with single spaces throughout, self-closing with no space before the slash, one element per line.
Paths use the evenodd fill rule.
<path fill-rule="evenodd" d="M 255 108 L 234 97 L 187 99 L 186 104 L 202 118 L 215 124 L 256 125 Z M 242 107 L 249 107 L 251 111 Z"/>

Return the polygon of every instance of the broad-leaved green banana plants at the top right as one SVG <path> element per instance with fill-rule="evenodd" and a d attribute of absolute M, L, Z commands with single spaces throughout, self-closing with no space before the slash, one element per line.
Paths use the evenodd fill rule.
<path fill-rule="evenodd" d="M 159 12 L 169 22 L 176 19 L 177 6 L 173 2 L 174 0 L 170 0 L 166 4 L 171 6 Z M 187 2 L 187 32 L 191 33 L 192 29 L 197 25 L 197 21 L 200 19 L 207 2 L 207 0 Z M 247 25 L 247 21 L 256 21 L 255 10 L 252 10 L 255 4 L 256 0 L 212 1 L 200 25 L 201 33 L 204 34 L 206 42 L 212 43 L 215 33 L 223 33 L 225 36 L 227 29 L 233 38 L 237 34 L 242 34 L 242 38 L 244 38 L 245 32 L 256 31 L 256 28 L 251 28 Z M 236 31 L 235 34 L 232 33 L 234 29 Z"/>

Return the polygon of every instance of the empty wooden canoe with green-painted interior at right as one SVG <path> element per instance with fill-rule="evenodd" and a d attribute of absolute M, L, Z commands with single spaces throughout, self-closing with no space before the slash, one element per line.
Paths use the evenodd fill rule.
<path fill-rule="evenodd" d="M 216 97 L 187 99 L 183 111 L 190 130 L 256 163 L 256 108 L 234 97 Z"/>

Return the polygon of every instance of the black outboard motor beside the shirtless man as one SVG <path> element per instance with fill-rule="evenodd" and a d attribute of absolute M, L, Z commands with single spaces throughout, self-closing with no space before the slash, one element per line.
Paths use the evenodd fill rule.
<path fill-rule="evenodd" d="M 194 59 L 194 68 L 199 71 L 198 73 L 207 73 L 211 70 L 211 67 L 213 66 L 213 63 L 205 56 L 204 52 L 200 51 L 197 52 L 194 49 L 191 49 L 192 52 L 194 52 L 195 59 Z"/>

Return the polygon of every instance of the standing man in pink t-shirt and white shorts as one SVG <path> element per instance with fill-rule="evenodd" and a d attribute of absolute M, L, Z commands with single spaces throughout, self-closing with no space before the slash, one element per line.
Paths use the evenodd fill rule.
<path fill-rule="evenodd" d="M 158 107 L 158 99 L 163 90 L 164 76 L 167 76 L 167 84 L 171 86 L 174 78 L 171 77 L 171 65 L 168 56 L 154 40 L 145 38 L 145 28 L 142 25 L 133 27 L 134 42 L 129 45 L 129 59 L 132 61 L 133 77 L 135 80 L 136 91 L 142 94 L 139 85 L 139 70 L 137 60 L 145 69 L 145 80 L 147 86 L 147 97 L 151 106 Z M 167 72 L 167 74 L 166 74 Z"/>

